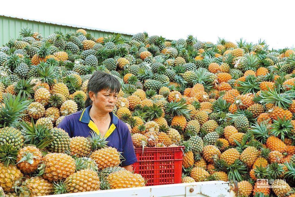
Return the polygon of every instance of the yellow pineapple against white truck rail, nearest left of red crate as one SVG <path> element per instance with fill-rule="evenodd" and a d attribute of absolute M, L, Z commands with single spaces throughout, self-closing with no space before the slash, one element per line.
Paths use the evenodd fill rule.
<path fill-rule="evenodd" d="M 111 189 L 144 187 L 145 180 L 140 174 L 132 174 L 127 170 L 119 170 L 106 178 Z"/>

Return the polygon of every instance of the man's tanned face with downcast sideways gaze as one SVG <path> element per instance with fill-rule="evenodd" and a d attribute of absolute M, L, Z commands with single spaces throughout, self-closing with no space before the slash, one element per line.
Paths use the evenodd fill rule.
<path fill-rule="evenodd" d="M 118 93 L 110 93 L 110 91 L 101 90 L 93 95 L 93 104 L 102 112 L 112 112 L 118 99 Z"/>

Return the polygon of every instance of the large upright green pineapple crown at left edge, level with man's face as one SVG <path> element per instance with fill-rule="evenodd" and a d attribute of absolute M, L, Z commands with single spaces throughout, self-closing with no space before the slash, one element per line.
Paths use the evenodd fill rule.
<path fill-rule="evenodd" d="M 21 120 L 19 116 L 21 112 L 27 109 L 31 100 L 27 100 L 21 97 L 20 94 L 17 96 L 7 93 L 7 97 L 3 98 L 3 104 L 0 108 L 0 128 L 5 126 L 14 126 L 18 120 Z"/>

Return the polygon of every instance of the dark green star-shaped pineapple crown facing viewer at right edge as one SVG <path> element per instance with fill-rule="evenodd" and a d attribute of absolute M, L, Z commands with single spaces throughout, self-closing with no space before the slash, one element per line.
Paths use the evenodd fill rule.
<path fill-rule="evenodd" d="M 273 120 L 271 128 L 271 135 L 275 137 L 281 136 L 282 141 L 285 140 L 285 136 L 291 136 L 293 134 L 291 120 L 286 120 L 285 116 L 283 119 L 278 118 L 278 120 Z"/>

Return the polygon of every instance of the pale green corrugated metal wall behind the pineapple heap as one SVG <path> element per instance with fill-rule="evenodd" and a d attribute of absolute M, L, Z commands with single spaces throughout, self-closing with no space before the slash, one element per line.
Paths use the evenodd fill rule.
<path fill-rule="evenodd" d="M 63 33 L 76 30 L 80 28 L 69 27 L 66 25 L 55 25 L 45 22 L 37 22 L 25 19 L 18 19 L 13 17 L 0 16 L 0 47 L 7 43 L 10 39 L 15 39 L 19 36 L 19 32 L 22 27 L 30 27 L 33 32 L 39 32 L 43 37 L 47 37 L 54 31 L 61 31 Z M 95 38 L 104 37 L 111 32 L 99 31 L 99 30 L 89 30 L 84 28 L 88 33 L 91 33 Z M 132 35 L 122 34 L 125 38 L 131 38 Z"/>

